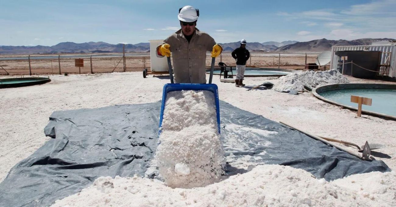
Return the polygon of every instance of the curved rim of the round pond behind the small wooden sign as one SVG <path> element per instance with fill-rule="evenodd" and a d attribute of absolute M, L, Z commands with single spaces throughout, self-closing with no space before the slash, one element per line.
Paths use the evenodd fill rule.
<path fill-rule="evenodd" d="M 326 101 L 331 104 L 335 104 L 338 106 L 342 106 L 344 108 L 348 108 L 348 109 L 357 111 L 358 110 L 357 107 L 346 106 L 344 104 L 337 103 L 335 101 L 331 101 L 330 99 L 326 99 L 325 97 L 319 95 L 319 93 L 322 93 L 322 92 L 342 90 L 342 89 L 396 89 L 396 84 L 329 84 L 329 85 L 322 85 L 320 87 L 313 89 L 312 94 L 316 98 L 318 98 L 322 101 Z M 396 116 L 391 116 L 391 115 L 383 114 L 383 113 L 379 113 L 379 112 L 362 110 L 362 113 L 370 114 L 373 116 L 383 116 L 383 117 L 387 117 L 387 118 L 396 120 Z"/>

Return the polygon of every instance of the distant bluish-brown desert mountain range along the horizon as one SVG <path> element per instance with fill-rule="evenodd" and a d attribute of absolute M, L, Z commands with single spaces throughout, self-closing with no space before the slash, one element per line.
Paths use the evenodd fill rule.
<path fill-rule="evenodd" d="M 275 52 L 321 52 L 331 50 L 331 46 L 354 46 L 370 45 L 373 40 L 383 39 L 357 39 L 357 40 L 311 40 L 308 42 L 284 41 L 284 42 L 248 42 L 246 48 L 249 51 L 275 51 Z M 224 51 L 230 52 L 240 46 L 240 42 L 220 43 Z M 0 54 L 57 54 L 57 53 L 120 53 L 123 44 L 109 44 L 106 42 L 61 42 L 54 46 L 0 46 Z M 126 52 L 150 51 L 150 44 L 142 42 L 138 44 L 126 44 Z"/>

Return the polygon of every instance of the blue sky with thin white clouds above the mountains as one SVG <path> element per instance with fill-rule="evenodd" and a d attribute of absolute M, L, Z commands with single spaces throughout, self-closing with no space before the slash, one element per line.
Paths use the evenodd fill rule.
<path fill-rule="evenodd" d="M 185 5 L 219 43 L 396 38 L 396 0 L 2 0 L 0 45 L 164 39 Z"/>

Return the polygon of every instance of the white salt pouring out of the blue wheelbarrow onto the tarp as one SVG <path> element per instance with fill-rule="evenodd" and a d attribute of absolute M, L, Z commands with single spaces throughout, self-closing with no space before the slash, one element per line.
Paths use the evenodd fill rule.
<path fill-rule="evenodd" d="M 160 145 L 153 162 L 171 187 L 201 187 L 220 179 L 225 158 L 212 92 L 167 94 Z"/>

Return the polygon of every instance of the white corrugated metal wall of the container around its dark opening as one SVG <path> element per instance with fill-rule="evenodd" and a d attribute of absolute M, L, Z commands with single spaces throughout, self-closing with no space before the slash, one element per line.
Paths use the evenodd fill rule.
<path fill-rule="evenodd" d="M 395 45 L 362 45 L 362 46 L 335 46 L 331 47 L 331 61 L 330 68 L 337 69 L 338 56 L 335 55 L 335 51 L 344 51 L 344 50 L 370 50 L 370 51 L 383 51 L 383 52 L 392 52 L 392 53 L 382 53 L 381 56 L 381 65 L 385 64 L 386 57 L 391 55 L 390 57 L 390 68 L 389 68 L 389 76 L 396 77 L 396 46 Z M 369 68 L 368 68 L 369 69 Z"/>

